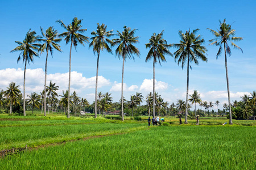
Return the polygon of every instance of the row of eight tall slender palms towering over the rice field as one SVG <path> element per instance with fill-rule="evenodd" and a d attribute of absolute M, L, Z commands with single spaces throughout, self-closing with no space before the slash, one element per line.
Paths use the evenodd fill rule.
<path fill-rule="evenodd" d="M 45 69 L 45 80 L 44 80 L 44 91 L 46 91 L 46 80 L 47 80 L 47 58 L 48 51 L 52 54 L 53 49 L 61 52 L 60 45 L 57 43 L 61 41 L 61 38 L 64 38 L 66 44 L 70 42 L 70 50 L 69 50 L 69 84 L 68 84 L 68 103 L 67 103 L 67 117 L 69 118 L 69 105 L 70 105 L 70 84 L 71 84 L 71 52 L 72 46 L 77 48 L 78 44 L 84 45 L 85 42 L 89 42 L 89 37 L 82 35 L 86 31 L 86 29 L 81 29 L 82 25 L 81 19 L 73 18 L 72 23 L 65 25 L 62 20 L 57 20 L 57 23 L 61 25 L 66 31 L 58 35 L 57 31 L 53 29 L 53 27 L 49 27 L 46 29 L 46 33 L 43 32 L 43 28 L 41 29 L 42 36 L 36 36 L 35 31 L 28 31 L 26 37 L 23 42 L 15 41 L 19 46 L 15 49 L 11 50 L 11 52 L 20 51 L 20 55 L 18 57 L 18 61 L 23 58 L 24 66 L 24 83 L 23 83 L 23 114 L 26 116 L 25 112 L 25 80 L 26 80 L 26 65 L 27 63 L 33 62 L 33 57 L 38 57 L 39 54 L 36 52 L 44 52 L 46 50 L 46 69 Z M 140 52 L 134 44 L 138 43 L 138 36 L 135 36 L 135 31 L 137 29 L 131 29 L 129 27 L 123 27 L 123 31 L 117 31 L 117 36 L 119 38 L 110 40 L 109 37 L 114 36 L 113 29 L 107 31 L 107 26 L 105 24 L 97 23 L 97 30 L 93 31 L 91 35 L 93 37 L 90 38 L 91 42 L 89 44 L 89 48 L 93 47 L 94 54 L 97 54 L 97 71 L 96 71 L 96 92 L 95 92 L 95 117 L 97 117 L 97 82 L 98 82 L 98 63 L 100 58 L 100 52 L 104 49 L 107 52 L 112 53 L 112 46 L 118 45 L 115 50 L 115 54 L 123 59 L 122 65 L 122 90 L 121 90 L 121 103 L 122 103 L 122 120 L 123 118 L 123 74 L 124 74 L 124 63 L 127 58 L 134 59 L 134 56 L 139 56 Z M 209 29 L 209 28 L 208 28 Z M 204 39 L 201 35 L 196 35 L 199 29 L 195 29 L 193 31 L 186 31 L 183 33 L 179 31 L 180 43 L 178 44 L 168 44 L 166 40 L 163 39 L 163 31 L 156 34 L 153 33 L 149 42 L 146 45 L 146 48 L 149 49 L 149 52 L 146 57 L 146 62 L 150 59 L 153 59 L 153 92 L 152 92 L 152 107 L 153 107 L 153 116 L 155 116 L 155 63 L 165 62 L 166 55 L 173 56 L 170 52 L 169 48 L 172 46 L 177 48 L 174 53 L 175 62 L 178 65 L 181 64 L 182 69 L 185 65 L 187 65 L 187 95 L 186 95 L 186 111 L 185 111 L 185 124 L 187 124 L 187 115 L 188 115 L 188 90 L 189 90 L 189 67 L 191 68 L 191 62 L 199 64 L 199 59 L 207 62 L 206 52 L 207 48 L 203 46 Z M 230 112 L 230 121 L 229 124 L 232 124 L 232 114 L 231 114 L 231 104 L 230 104 L 230 95 L 229 95 L 229 80 L 228 80 L 228 66 L 226 60 L 226 54 L 231 55 L 231 50 L 228 45 L 228 41 L 231 41 L 231 45 L 234 48 L 242 50 L 239 46 L 234 44 L 232 41 L 240 41 L 241 37 L 235 37 L 236 31 L 231 28 L 231 25 L 226 24 L 226 20 L 220 22 L 220 28 L 217 31 L 213 29 L 209 29 L 210 32 L 216 37 L 215 39 L 209 40 L 210 45 L 220 46 L 217 53 L 217 58 L 221 56 L 222 52 L 222 44 L 224 44 L 225 51 L 225 67 L 226 67 L 226 80 L 227 80 L 227 88 L 228 88 L 228 98 L 229 98 L 229 112 Z M 43 39 L 44 37 L 44 39 Z M 36 42 L 43 42 L 43 44 L 39 44 Z M 187 63 L 186 63 L 187 62 Z M 44 94 L 44 115 L 46 116 L 46 94 Z"/>

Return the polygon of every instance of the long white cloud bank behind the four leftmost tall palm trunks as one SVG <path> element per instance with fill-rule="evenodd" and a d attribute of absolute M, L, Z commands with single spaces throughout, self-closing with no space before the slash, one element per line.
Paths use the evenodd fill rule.
<path fill-rule="evenodd" d="M 22 69 L 5 69 L 0 70 L 0 88 L 3 90 L 9 86 L 9 83 L 15 82 L 16 85 L 20 85 L 20 90 L 23 89 L 23 76 L 24 71 Z M 47 85 L 50 80 L 59 86 L 58 94 L 62 94 L 62 90 L 68 89 L 68 73 L 55 73 L 47 75 Z M 88 88 L 95 88 L 96 76 L 91 78 L 85 78 L 82 73 L 77 71 L 71 72 L 71 91 L 77 91 L 78 93 Z M 105 79 L 103 76 L 98 76 L 98 88 L 109 86 L 110 80 Z M 26 95 L 31 92 L 39 93 L 44 88 L 44 71 L 43 69 L 27 69 L 26 70 Z M 23 90 L 22 90 L 23 91 Z"/>

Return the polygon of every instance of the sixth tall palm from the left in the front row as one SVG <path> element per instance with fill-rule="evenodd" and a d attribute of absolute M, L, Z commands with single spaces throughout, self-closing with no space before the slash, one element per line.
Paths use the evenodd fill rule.
<path fill-rule="evenodd" d="M 153 58 L 153 116 L 155 116 L 155 63 L 159 61 L 161 65 L 161 61 L 166 62 L 164 55 L 172 56 L 172 53 L 168 50 L 168 48 L 171 48 L 171 45 L 167 44 L 167 41 L 163 39 L 163 31 L 158 35 L 153 33 L 149 43 L 145 45 L 146 48 L 150 48 L 147 53 L 146 62 Z"/>

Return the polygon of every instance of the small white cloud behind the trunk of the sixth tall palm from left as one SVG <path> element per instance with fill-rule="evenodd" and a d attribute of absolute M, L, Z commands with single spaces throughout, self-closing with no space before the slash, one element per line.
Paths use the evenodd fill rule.
<path fill-rule="evenodd" d="M 168 83 L 155 80 L 155 91 L 167 90 Z M 153 79 L 144 79 L 140 91 L 152 91 L 153 90 Z"/>

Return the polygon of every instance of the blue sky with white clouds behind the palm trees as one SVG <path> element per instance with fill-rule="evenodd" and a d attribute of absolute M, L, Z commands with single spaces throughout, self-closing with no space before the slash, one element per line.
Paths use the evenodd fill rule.
<path fill-rule="evenodd" d="M 164 39 L 168 43 L 179 43 L 178 31 L 199 28 L 198 34 L 205 39 L 208 62 L 200 61 L 193 65 L 189 75 L 189 94 L 197 90 L 203 101 L 219 100 L 227 103 L 226 75 L 224 56 L 216 60 L 218 47 L 209 46 L 208 40 L 213 39 L 207 28 L 216 30 L 218 20 L 226 18 L 228 24 L 236 29 L 236 36 L 243 40 L 236 44 L 243 49 L 232 49 L 228 57 L 231 100 L 240 100 L 240 96 L 256 90 L 256 44 L 252 33 L 256 27 L 254 1 L 4 1 L 0 5 L 0 88 L 6 90 L 10 82 L 16 82 L 23 89 L 22 62 L 17 63 L 18 52 L 10 53 L 22 41 L 31 28 L 40 35 L 40 26 L 47 29 L 53 26 L 59 33 L 65 30 L 55 23 L 63 20 L 65 24 L 72 22 L 76 16 L 82 20 L 82 28 L 87 28 L 85 35 L 96 30 L 97 23 L 108 25 L 108 30 L 122 31 L 123 25 L 137 28 L 141 56 L 135 61 L 125 63 L 126 99 L 136 92 L 146 96 L 152 89 L 152 61 L 145 62 L 148 49 L 145 45 L 152 33 L 164 30 Z M 116 37 L 116 36 L 115 36 Z M 113 38 L 115 38 L 113 37 Z M 48 79 L 60 86 L 59 94 L 68 87 L 69 44 L 60 43 L 63 53 L 54 52 L 48 59 Z M 113 51 L 115 47 L 113 48 Z M 172 53 L 175 48 L 170 49 Z M 40 92 L 44 86 L 44 67 L 46 53 L 35 58 L 27 69 L 26 94 Z M 185 100 L 187 69 L 181 69 L 174 58 L 166 56 L 167 62 L 155 67 L 156 91 L 165 101 L 176 103 L 177 99 Z M 76 90 L 80 97 L 93 102 L 95 92 L 96 61 L 93 50 L 85 46 L 72 49 L 71 90 Z M 100 82 L 98 92 L 110 92 L 113 101 L 121 97 L 122 60 L 114 54 L 103 52 L 99 65 Z"/>

